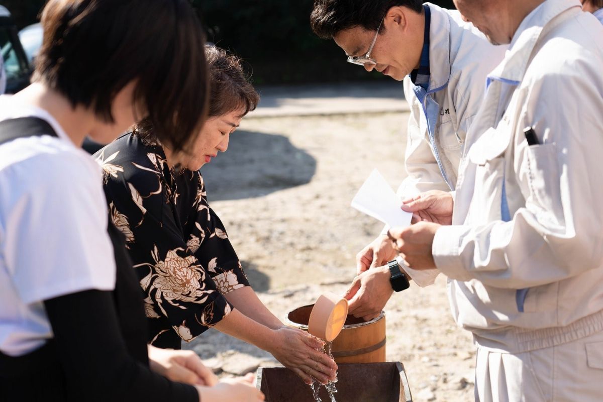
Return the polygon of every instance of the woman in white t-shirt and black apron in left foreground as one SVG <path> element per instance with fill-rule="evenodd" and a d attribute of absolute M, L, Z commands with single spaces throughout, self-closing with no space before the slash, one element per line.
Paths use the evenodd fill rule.
<path fill-rule="evenodd" d="M 189 2 L 50 0 L 42 25 L 33 84 L 0 96 L 2 400 L 264 400 L 251 379 L 217 383 L 194 353 L 147 346 L 101 168 L 80 149 L 147 118 L 188 151 L 207 93 Z"/>

